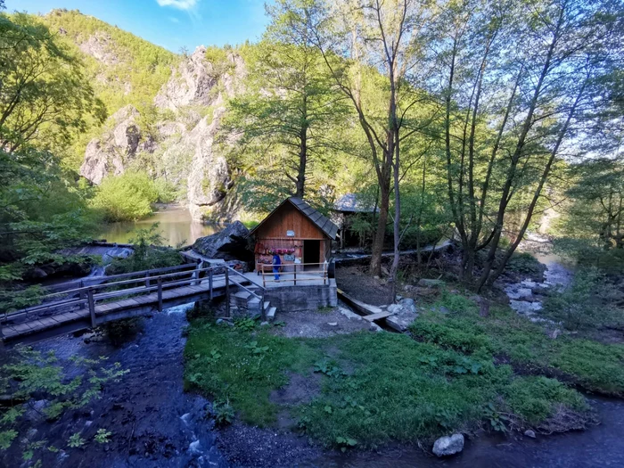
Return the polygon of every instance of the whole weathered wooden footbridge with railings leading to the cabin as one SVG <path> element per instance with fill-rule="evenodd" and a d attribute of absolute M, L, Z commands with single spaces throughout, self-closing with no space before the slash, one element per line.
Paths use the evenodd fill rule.
<path fill-rule="evenodd" d="M 56 284 L 38 306 L 0 316 L 0 338 L 8 342 L 33 342 L 63 333 L 93 328 L 121 318 L 144 316 L 196 300 L 244 292 L 249 308 L 265 314 L 266 290 L 251 283 L 225 263 L 218 267 L 186 264 L 178 267 L 111 276 L 89 276 L 80 283 Z M 64 287 L 65 286 L 65 287 Z M 242 291 L 241 291 L 242 290 Z"/>

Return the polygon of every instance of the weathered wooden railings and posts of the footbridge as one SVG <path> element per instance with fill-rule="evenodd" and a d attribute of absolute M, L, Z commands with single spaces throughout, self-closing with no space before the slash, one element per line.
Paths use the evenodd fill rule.
<path fill-rule="evenodd" d="M 216 272 L 218 274 L 216 274 Z M 188 275 L 188 277 L 185 277 Z M 102 301 L 111 301 L 119 298 L 132 299 L 137 296 L 157 293 L 158 309 L 162 310 L 162 293 L 176 287 L 198 285 L 204 281 L 209 282 L 209 298 L 214 298 L 214 285 L 217 281 L 225 280 L 227 311 L 229 315 L 229 288 L 232 276 L 239 275 L 245 281 L 247 278 L 242 273 L 227 265 L 213 267 L 201 267 L 201 264 L 187 264 L 177 267 L 155 268 L 139 272 L 102 276 L 99 277 L 101 283 L 88 286 L 73 287 L 63 291 L 51 292 L 42 297 L 44 301 L 38 306 L 16 310 L 11 313 L 5 312 L 0 322 L 7 323 L 19 319 L 29 319 L 31 315 L 54 316 L 67 312 L 67 309 L 89 309 L 93 326 L 96 324 L 95 304 Z M 183 276 L 179 279 L 180 276 Z M 93 279 L 96 277 L 91 277 Z M 125 279 L 127 278 L 127 279 Z M 118 280 L 118 281 L 112 281 Z M 264 303 L 264 288 L 259 287 L 259 292 L 252 291 L 236 282 L 236 285 L 249 291 L 255 298 L 260 300 L 260 305 Z M 106 291 L 107 289 L 111 291 Z M 59 298 L 59 299 L 56 299 Z M 24 321 L 24 320 L 22 320 Z"/>

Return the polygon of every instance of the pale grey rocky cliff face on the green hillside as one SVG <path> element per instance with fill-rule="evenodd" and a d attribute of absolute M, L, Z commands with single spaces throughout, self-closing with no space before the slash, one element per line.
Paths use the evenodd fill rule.
<path fill-rule="evenodd" d="M 144 161 L 150 160 L 148 170 L 185 186 L 193 218 L 234 219 L 234 204 L 226 200 L 233 188 L 232 168 L 215 139 L 227 99 L 241 89 L 245 66 L 234 53 L 218 67 L 205 56 L 206 49 L 198 47 L 172 70 L 153 99 L 159 119 L 167 118 L 152 122 L 152 128 L 131 105 L 111 115 L 103 135 L 87 145 L 80 174 L 97 185 L 133 166 L 145 169 Z"/>

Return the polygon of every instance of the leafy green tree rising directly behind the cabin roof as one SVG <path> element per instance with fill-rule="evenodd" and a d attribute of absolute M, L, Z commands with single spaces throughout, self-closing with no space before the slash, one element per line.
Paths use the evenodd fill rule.
<path fill-rule="evenodd" d="M 240 135 L 236 151 L 248 156 L 243 164 L 248 172 L 257 167 L 259 153 L 267 156 L 273 177 L 256 177 L 255 185 L 277 185 L 269 190 L 277 198 L 284 189 L 304 198 L 315 163 L 340 151 L 334 128 L 345 116 L 343 98 L 316 47 L 305 39 L 285 43 L 269 29 L 243 55 L 246 91 L 230 102 L 226 120 L 227 129 Z"/>

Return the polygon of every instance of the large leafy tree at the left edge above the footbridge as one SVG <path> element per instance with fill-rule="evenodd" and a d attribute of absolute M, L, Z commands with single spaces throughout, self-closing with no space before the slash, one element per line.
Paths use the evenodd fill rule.
<path fill-rule="evenodd" d="M 0 279 L 64 261 L 53 250 L 85 234 L 76 175 L 54 152 L 89 116 L 102 121 L 103 104 L 62 39 L 36 17 L 0 14 Z"/>

